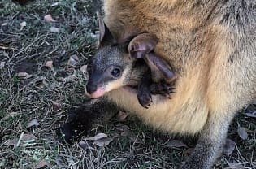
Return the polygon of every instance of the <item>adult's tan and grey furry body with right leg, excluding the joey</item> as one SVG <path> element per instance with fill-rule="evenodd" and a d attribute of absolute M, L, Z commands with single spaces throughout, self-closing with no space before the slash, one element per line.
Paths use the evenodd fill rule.
<path fill-rule="evenodd" d="M 155 52 L 177 75 L 171 100 L 153 97 L 148 110 L 136 93 L 108 98 L 165 132 L 199 133 L 182 168 L 210 168 L 232 117 L 256 98 L 255 0 L 105 0 L 105 22 L 121 41 L 132 33 L 158 37 Z M 197 163 L 196 163 L 197 162 Z"/>

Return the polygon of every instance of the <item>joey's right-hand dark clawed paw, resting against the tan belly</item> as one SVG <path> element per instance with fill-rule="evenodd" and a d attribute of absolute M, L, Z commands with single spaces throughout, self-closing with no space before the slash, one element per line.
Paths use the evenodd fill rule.
<path fill-rule="evenodd" d="M 153 83 L 150 87 L 152 94 L 160 94 L 163 95 L 166 98 L 171 99 L 171 93 L 175 93 L 175 87 L 174 85 L 168 84 L 166 82 L 160 82 L 160 83 Z"/>

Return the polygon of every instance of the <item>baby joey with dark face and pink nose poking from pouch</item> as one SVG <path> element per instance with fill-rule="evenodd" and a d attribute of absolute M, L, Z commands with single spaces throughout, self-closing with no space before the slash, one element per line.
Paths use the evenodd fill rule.
<path fill-rule="evenodd" d="M 141 33 L 117 43 L 100 15 L 98 19 L 99 48 L 88 67 L 89 75 L 97 73 L 89 78 L 86 87 L 89 97 L 98 98 L 113 89 L 137 85 L 137 98 L 145 108 L 152 102 L 151 93 L 169 97 L 175 76 L 168 63 L 154 54 L 157 38 Z"/>

